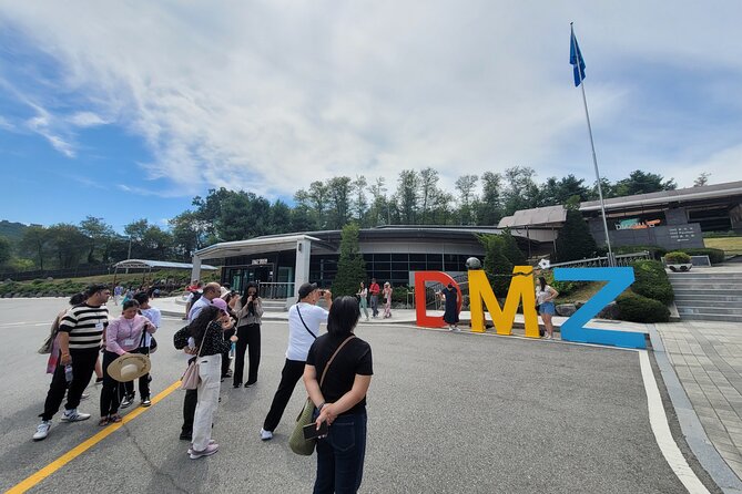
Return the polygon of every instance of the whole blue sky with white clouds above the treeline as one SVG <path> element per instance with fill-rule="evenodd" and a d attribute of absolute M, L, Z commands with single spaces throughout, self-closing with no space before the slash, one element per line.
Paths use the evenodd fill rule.
<path fill-rule="evenodd" d="M 742 2 L 0 0 L 0 219 L 165 226 L 210 188 L 520 165 L 739 179 Z"/>

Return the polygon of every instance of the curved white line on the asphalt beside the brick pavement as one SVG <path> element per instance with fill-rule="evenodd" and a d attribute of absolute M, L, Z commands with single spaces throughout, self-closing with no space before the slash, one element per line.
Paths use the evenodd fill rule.
<path fill-rule="evenodd" d="M 695 475 L 695 472 L 691 470 L 685 457 L 680 452 L 680 447 L 678 447 L 675 440 L 672 438 L 670 425 L 668 424 L 668 416 L 664 413 L 664 406 L 662 406 L 660 389 L 657 387 L 657 381 L 654 380 L 654 373 L 652 372 L 652 366 L 649 362 L 649 353 L 647 353 L 647 350 L 639 351 L 639 363 L 641 367 L 641 377 L 644 381 L 644 391 L 647 392 L 649 423 L 652 426 L 654 439 L 660 446 L 660 451 L 662 451 L 662 455 L 664 455 L 664 460 L 667 460 L 668 464 L 675 475 L 678 475 L 678 478 L 680 478 L 680 482 L 683 483 L 689 493 L 708 494 L 709 491 Z"/>

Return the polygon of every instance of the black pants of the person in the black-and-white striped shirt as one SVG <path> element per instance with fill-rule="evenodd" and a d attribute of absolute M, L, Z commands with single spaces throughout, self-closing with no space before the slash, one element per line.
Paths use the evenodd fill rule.
<path fill-rule="evenodd" d="M 88 350 L 70 350 L 72 358 L 72 382 L 70 383 L 70 391 L 68 392 L 67 379 L 64 378 L 64 366 L 60 363 L 54 369 L 54 375 L 51 378 L 49 392 L 47 393 L 47 401 L 43 405 L 43 413 L 40 415 L 42 420 L 51 420 L 54 413 L 59 411 L 59 406 L 64 400 L 67 393 L 65 410 L 77 409 L 80 404 L 80 397 L 90 383 L 90 378 L 95 370 L 95 362 L 98 361 L 98 348 Z"/>

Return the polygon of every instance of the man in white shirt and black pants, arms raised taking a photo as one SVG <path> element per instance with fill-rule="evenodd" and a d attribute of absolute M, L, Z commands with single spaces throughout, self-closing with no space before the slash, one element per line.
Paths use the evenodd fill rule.
<path fill-rule="evenodd" d="M 327 310 L 317 307 L 317 300 L 324 298 Z M 309 347 L 319 336 L 319 325 L 327 322 L 329 308 L 333 306 L 333 294 L 329 290 L 319 290 L 316 284 L 304 284 L 298 288 L 298 302 L 288 309 L 288 348 L 286 349 L 286 362 L 281 371 L 281 383 L 273 397 L 271 410 L 265 416 L 261 439 L 267 441 L 273 439 L 273 431 L 281 422 L 281 416 L 286 410 L 296 382 L 304 374 L 304 366 Z"/>

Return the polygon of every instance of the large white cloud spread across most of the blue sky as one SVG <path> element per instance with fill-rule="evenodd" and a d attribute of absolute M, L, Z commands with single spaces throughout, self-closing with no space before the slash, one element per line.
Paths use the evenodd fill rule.
<path fill-rule="evenodd" d="M 667 86 L 649 86 L 663 79 L 638 69 L 692 72 L 693 94 L 707 91 L 713 102 L 742 79 L 741 14 L 738 2 L 681 1 L 670 11 L 639 0 L 0 7 L 0 19 L 59 61 L 61 89 L 87 101 L 68 124 L 115 115 L 145 140 L 145 169 L 172 179 L 173 193 L 209 185 L 267 196 L 339 174 L 394 182 L 399 169 L 424 166 L 448 186 L 516 164 L 540 178 L 589 179 L 582 102 L 567 62 L 570 20 L 606 174 L 651 165 L 690 185 L 687 169 L 716 163 L 742 137 L 699 127 L 704 121 L 683 95 L 660 106 L 653 96 L 677 79 L 670 72 Z M 714 85 L 709 74 L 721 73 L 726 83 Z M 729 107 L 742 123 L 740 105 Z M 73 155 L 69 135 L 50 125 L 37 132 Z"/>

